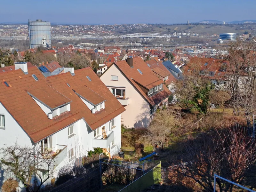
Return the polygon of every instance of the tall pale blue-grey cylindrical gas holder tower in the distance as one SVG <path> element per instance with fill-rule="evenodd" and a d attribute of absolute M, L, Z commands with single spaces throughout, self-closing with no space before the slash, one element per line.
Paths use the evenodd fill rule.
<path fill-rule="evenodd" d="M 41 19 L 37 19 L 36 21 L 28 20 L 28 32 L 30 48 L 36 48 L 40 45 L 45 47 L 42 42 L 46 42 L 47 47 L 52 46 L 50 22 L 42 21 Z"/>

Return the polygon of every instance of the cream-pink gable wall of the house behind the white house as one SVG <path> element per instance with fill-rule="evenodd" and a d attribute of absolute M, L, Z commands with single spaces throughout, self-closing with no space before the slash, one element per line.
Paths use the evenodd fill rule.
<path fill-rule="evenodd" d="M 112 81 L 111 76 L 118 76 L 118 81 Z M 148 102 L 115 65 L 111 65 L 111 67 L 100 76 L 100 79 L 108 87 L 109 91 L 111 91 L 112 88 L 125 89 L 125 97 L 129 97 L 130 104 L 124 106 L 126 109 L 126 111 L 122 113 L 124 125 L 129 127 L 147 127 L 149 125 L 150 106 Z"/>

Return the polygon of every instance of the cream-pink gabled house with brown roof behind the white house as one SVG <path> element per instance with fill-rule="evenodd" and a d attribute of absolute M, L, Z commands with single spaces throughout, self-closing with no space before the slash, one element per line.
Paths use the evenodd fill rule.
<path fill-rule="evenodd" d="M 147 127 L 171 95 L 164 81 L 139 57 L 112 63 L 100 79 L 126 109 L 122 121 L 129 127 Z"/>

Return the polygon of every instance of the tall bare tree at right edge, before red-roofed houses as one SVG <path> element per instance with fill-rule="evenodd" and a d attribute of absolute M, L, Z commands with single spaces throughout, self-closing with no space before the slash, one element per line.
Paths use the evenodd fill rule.
<path fill-rule="evenodd" d="M 233 112 L 235 115 L 239 115 L 240 111 L 244 112 L 247 126 L 250 126 L 256 101 L 255 51 L 254 41 L 237 41 L 229 44 L 229 55 L 226 56 Z"/>

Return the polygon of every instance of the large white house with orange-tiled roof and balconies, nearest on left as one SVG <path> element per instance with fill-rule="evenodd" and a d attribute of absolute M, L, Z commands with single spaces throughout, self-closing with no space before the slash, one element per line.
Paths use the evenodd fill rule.
<path fill-rule="evenodd" d="M 121 148 L 124 107 L 91 68 L 64 72 L 45 78 L 37 67 L 19 62 L 15 70 L 0 73 L 0 148 L 16 142 L 51 151 L 54 169 L 45 185 L 62 166 L 81 162 L 94 148 L 109 156 Z M 3 180 L 11 176 L 0 169 Z M 37 173 L 47 172 L 42 167 Z"/>

